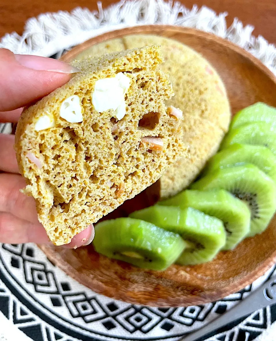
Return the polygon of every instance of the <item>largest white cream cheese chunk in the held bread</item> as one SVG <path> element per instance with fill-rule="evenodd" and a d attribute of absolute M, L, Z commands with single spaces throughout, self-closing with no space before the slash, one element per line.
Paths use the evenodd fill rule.
<path fill-rule="evenodd" d="M 98 79 L 92 95 L 92 104 L 99 113 L 113 109 L 118 120 L 126 114 L 125 93 L 130 86 L 130 79 L 122 72 L 115 77 Z"/>

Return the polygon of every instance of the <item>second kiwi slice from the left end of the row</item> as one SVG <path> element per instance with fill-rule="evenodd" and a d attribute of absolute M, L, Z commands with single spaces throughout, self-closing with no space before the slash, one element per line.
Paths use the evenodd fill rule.
<path fill-rule="evenodd" d="M 143 219 L 180 234 L 188 243 L 177 260 L 181 265 L 209 262 L 225 245 L 223 223 L 194 208 L 181 210 L 179 207 L 155 205 L 133 212 L 130 217 Z"/>

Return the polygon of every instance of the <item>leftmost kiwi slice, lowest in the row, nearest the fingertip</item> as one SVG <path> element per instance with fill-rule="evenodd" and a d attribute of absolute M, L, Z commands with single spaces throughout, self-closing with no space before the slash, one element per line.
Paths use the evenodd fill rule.
<path fill-rule="evenodd" d="M 97 252 L 109 258 L 150 270 L 165 270 L 186 247 L 178 234 L 131 218 L 96 224 L 93 244 Z"/>

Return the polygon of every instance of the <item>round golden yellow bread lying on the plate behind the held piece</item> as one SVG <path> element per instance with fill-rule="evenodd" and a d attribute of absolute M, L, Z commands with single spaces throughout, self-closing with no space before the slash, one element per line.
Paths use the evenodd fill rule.
<path fill-rule="evenodd" d="M 126 49 L 154 44 L 161 46 L 165 62 L 160 68 L 169 73 L 175 93 L 166 104 L 183 111 L 183 142 L 188 148 L 188 158 L 177 161 L 160 178 L 160 196 L 164 198 L 178 193 L 197 177 L 228 130 L 230 106 L 219 75 L 193 49 L 154 35 L 130 35 L 106 41 L 76 58 L 104 53 L 103 46 Z"/>

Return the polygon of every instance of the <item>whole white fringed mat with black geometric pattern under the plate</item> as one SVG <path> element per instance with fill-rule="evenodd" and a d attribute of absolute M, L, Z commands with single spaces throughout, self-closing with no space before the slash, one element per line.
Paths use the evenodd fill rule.
<path fill-rule="evenodd" d="M 178 2 L 122 1 L 98 12 L 42 14 L 29 19 L 22 36 L 5 35 L 0 47 L 14 53 L 59 58 L 65 50 L 93 36 L 143 24 L 194 27 L 228 39 L 259 58 L 276 74 L 276 50 L 251 35 L 237 19 L 227 29 L 226 13 L 206 7 L 187 10 Z M 53 56 L 54 55 L 54 56 Z M 10 124 L 0 132 L 10 133 Z M 239 293 L 186 308 L 130 305 L 98 295 L 55 267 L 35 244 L 0 244 L 0 340 L 91 341 L 178 340 L 202 327 L 250 295 L 276 266 Z M 208 341 L 276 341 L 276 305 L 231 322 Z"/>

